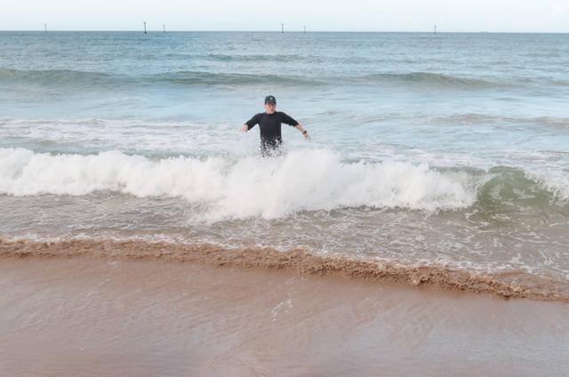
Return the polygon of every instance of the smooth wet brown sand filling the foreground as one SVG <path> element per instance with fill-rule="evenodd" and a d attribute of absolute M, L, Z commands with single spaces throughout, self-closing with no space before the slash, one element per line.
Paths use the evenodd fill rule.
<path fill-rule="evenodd" d="M 565 376 L 569 305 L 292 271 L 0 258 L 0 375 Z"/>

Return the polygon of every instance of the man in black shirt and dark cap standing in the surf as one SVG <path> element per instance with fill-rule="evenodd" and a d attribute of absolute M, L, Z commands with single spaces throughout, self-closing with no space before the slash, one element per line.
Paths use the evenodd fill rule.
<path fill-rule="evenodd" d="M 309 140 L 309 132 L 302 127 L 302 124 L 295 121 L 291 116 L 287 116 L 281 111 L 276 111 L 276 99 L 272 95 L 265 97 L 265 112 L 259 113 L 248 120 L 241 132 L 247 132 L 259 124 L 260 128 L 260 153 L 262 156 L 274 156 L 279 152 L 283 143 L 281 138 L 281 124 L 289 124 L 302 132 L 304 139 Z"/>

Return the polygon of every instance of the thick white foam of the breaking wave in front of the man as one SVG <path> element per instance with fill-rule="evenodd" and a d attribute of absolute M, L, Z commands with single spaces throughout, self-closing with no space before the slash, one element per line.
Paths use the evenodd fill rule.
<path fill-rule="evenodd" d="M 152 160 L 114 150 L 50 155 L 0 148 L 0 192 L 14 196 L 80 196 L 110 190 L 136 197 L 183 197 L 204 203 L 206 216 L 278 218 L 301 210 L 403 207 L 437 211 L 472 205 L 477 181 L 466 172 L 427 164 L 341 162 L 325 149 L 238 160 L 186 156 Z"/>

